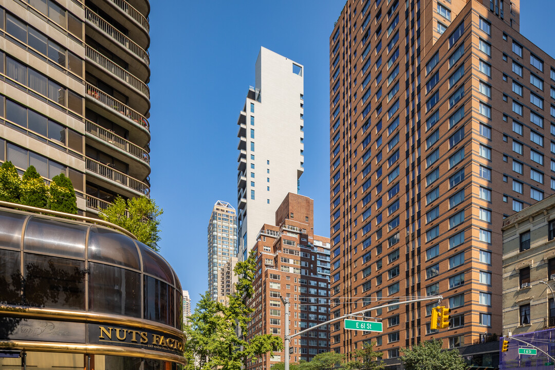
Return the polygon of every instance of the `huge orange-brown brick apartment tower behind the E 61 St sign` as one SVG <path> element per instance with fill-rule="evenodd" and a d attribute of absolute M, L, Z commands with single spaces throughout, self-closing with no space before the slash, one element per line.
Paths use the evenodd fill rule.
<path fill-rule="evenodd" d="M 384 333 L 331 328 L 348 353 L 501 333 L 501 226 L 555 188 L 555 60 L 519 33 L 519 1 L 350 0 L 330 36 L 331 312 L 372 311 Z M 554 140 L 554 141 L 552 141 Z M 354 297 L 354 298 L 353 298 Z M 349 299 L 347 299 L 349 298 Z"/>

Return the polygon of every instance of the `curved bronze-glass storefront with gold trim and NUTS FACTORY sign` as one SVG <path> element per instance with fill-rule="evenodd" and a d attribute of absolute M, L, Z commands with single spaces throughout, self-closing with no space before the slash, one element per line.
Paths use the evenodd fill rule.
<path fill-rule="evenodd" d="M 0 208 L 0 370 L 181 368 L 182 302 L 173 268 L 132 237 Z"/>

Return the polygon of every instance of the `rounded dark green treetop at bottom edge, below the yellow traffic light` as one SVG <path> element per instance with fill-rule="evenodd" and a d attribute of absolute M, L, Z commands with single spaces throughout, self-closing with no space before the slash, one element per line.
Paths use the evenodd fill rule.
<path fill-rule="evenodd" d="M 401 349 L 406 370 L 464 370 L 467 367 L 458 349 L 442 350 L 442 341 L 433 339 Z"/>

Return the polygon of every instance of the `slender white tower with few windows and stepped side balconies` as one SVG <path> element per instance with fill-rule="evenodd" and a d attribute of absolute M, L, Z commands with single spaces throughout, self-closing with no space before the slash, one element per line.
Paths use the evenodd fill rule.
<path fill-rule="evenodd" d="M 256 83 L 239 113 L 237 202 L 239 258 L 246 259 L 264 223 L 297 192 L 304 156 L 301 64 L 260 48 Z"/>

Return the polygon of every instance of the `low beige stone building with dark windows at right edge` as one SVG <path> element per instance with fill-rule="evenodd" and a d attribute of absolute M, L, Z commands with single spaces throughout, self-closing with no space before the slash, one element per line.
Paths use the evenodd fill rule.
<path fill-rule="evenodd" d="M 503 221 L 503 334 L 555 327 L 555 195 Z"/>

